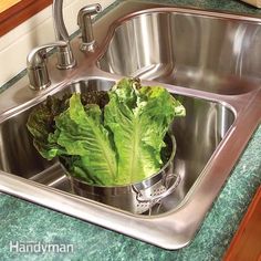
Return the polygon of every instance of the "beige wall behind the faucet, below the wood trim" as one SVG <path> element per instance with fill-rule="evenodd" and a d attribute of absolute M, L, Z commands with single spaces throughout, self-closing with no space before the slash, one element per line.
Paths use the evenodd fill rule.
<path fill-rule="evenodd" d="M 64 21 L 70 34 L 77 30 L 77 11 L 95 2 L 105 9 L 114 0 L 64 1 Z M 0 38 L 0 86 L 25 69 L 27 55 L 32 48 L 55 40 L 51 15 L 52 9 L 49 7 Z"/>

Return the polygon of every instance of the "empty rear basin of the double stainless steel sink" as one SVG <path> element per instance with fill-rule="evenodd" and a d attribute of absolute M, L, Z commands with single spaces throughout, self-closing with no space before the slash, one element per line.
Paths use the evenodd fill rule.
<path fill-rule="evenodd" d="M 98 66 L 119 75 L 242 94 L 255 88 L 249 79 L 260 82 L 260 42 L 259 24 L 148 11 L 115 29 Z"/>

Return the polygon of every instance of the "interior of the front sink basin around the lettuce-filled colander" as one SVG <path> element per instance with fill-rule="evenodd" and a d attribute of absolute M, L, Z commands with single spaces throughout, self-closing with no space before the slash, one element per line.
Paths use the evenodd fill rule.
<path fill-rule="evenodd" d="M 107 91 L 113 84 L 112 81 L 98 79 L 80 81 L 65 86 L 55 95 L 86 93 L 88 90 Z M 180 175 L 182 181 L 175 194 L 163 202 L 160 211 L 173 210 L 180 203 L 234 121 L 231 109 L 219 103 L 184 95 L 177 98 L 182 102 L 188 115 L 177 118 L 173 125 L 177 142 L 175 173 Z M 42 158 L 32 144 L 32 136 L 25 126 L 31 109 L 15 114 L 0 124 L 0 170 L 70 192 L 69 179 L 59 163 Z"/>

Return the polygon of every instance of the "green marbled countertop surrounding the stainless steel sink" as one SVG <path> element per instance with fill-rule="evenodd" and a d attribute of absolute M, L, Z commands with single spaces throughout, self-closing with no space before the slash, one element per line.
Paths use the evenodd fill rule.
<path fill-rule="evenodd" d="M 152 1 L 152 0 L 150 0 Z M 156 1 L 155 2 L 159 2 Z M 234 0 L 160 1 L 211 10 L 261 14 Z M 261 126 L 192 242 L 178 251 L 163 250 L 79 219 L 0 194 L 0 260 L 220 260 L 258 186 L 261 184 Z M 69 243 L 73 253 L 10 252 L 10 241 Z"/>

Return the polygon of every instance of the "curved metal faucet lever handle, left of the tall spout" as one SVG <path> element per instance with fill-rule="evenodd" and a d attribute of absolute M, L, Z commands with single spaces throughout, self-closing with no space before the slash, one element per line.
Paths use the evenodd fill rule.
<path fill-rule="evenodd" d="M 27 59 L 27 70 L 30 87 L 39 91 L 48 87 L 51 84 L 48 67 L 46 67 L 46 51 L 51 48 L 66 48 L 67 43 L 64 41 L 58 41 L 54 43 L 43 44 L 34 48 Z"/>

